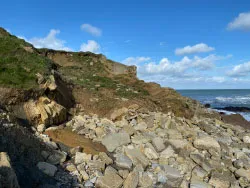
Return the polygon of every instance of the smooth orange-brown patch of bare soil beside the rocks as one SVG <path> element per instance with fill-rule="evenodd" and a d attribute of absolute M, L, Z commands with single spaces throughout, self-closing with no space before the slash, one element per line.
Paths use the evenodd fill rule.
<path fill-rule="evenodd" d="M 106 148 L 102 144 L 93 142 L 84 136 L 76 134 L 69 128 L 49 130 L 46 131 L 45 134 L 47 134 L 53 141 L 61 142 L 68 147 L 73 148 L 80 146 L 83 148 L 83 151 L 88 154 L 96 155 L 99 152 L 107 153 Z"/>

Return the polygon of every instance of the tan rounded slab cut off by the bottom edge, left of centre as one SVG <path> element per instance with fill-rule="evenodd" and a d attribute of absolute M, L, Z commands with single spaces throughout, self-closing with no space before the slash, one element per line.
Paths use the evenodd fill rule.
<path fill-rule="evenodd" d="M 123 179 L 116 173 L 105 173 L 104 176 L 96 180 L 96 188 L 120 188 L 123 184 Z"/>

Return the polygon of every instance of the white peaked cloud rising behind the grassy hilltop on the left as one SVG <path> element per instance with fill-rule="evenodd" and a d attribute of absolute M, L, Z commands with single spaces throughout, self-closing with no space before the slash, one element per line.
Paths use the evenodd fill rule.
<path fill-rule="evenodd" d="M 22 36 L 19 36 L 19 38 L 25 39 L 27 42 L 33 44 L 36 48 L 72 51 L 72 49 L 65 46 L 66 41 L 57 38 L 59 33 L 60 30 L 51 29 L 49 34 L 44 38 L 34 37 L 31 39 L 25 39 L 25 37 Z"/>

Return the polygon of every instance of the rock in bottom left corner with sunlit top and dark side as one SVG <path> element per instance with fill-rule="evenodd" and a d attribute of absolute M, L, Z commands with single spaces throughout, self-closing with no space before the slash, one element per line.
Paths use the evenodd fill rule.
<path fill-rule="evenodd" d="M 16 173 L 13 170 L 7 153 L 0 153 L 0 187 L 19 188 Z"/>

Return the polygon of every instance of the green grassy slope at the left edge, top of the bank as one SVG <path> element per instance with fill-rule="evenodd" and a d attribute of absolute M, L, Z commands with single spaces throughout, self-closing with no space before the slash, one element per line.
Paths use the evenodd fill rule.
<path fill-rule="evenodd" d="M 4 33 L 0 28 L 0 85 L 15 88 L 34 88 L 36 74 L 47 74 L 51 61 L 36 51 L 24 40 Z"/>

